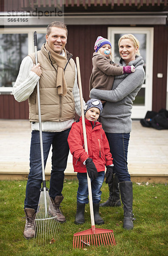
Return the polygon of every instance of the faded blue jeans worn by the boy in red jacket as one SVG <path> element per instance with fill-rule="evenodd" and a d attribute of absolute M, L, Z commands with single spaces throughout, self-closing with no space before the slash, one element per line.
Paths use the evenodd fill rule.
<path fill-rule="evenodd" d="M 87 173 L 77 173 L 78 177 L 78 191 L 77 202 L 79 204 L 88 204 L 88 185 L 87 185 Z M 92 201 L 94 204 L 98 204 L 101 201 L 101 186 L 104 182 L 104 172 L 98 172 L 98 176 L 91 180 L 92 186 Z"/>

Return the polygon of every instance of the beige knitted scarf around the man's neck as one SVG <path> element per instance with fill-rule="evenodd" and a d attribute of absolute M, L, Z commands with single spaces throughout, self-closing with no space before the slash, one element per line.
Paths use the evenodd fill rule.
<path fill-rule="evenodd" d="M 64 68 L 67 64 L 66 51 L 65 56 L 62 56 L 56 52 L 54 52 L 48 45 L 48 42 L 45 44 L 45 48 L 50 52 L 51 57 L 56 61 L 58 65 L 57 69 L 57 79 L 56 79 L 56 87 L 58 88 L 58 94 L 61 96 L 65 96 L 67 94 L 67 82 L 64 77 Z"/>

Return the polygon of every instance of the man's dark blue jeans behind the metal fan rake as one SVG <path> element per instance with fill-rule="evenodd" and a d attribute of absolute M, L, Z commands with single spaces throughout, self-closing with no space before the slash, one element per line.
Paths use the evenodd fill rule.
<path fill-rule="evenodd" d="M 52 170 L 50 175 L 50 197 L 55 199 L 62 195 L 64 170 L 67 167 L 69 145 L 67 137 L 70 128 L 61 132 L 42 132 L 44 164 L 46 165 L 52 145 Z M 40 151 L 39 131 L 31 133 L 30 172 L 26 186 L 25 208 L 37 210 L 42 183 L 42 161 Z"/>

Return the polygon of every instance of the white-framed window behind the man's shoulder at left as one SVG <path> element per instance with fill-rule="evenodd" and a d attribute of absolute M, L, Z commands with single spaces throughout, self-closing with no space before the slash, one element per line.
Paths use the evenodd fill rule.
<path fill-rule="evenodd" d="M 0 29 L 0 93 L 11 93 L 22 59 L 34 52 L 34 31 L 37 49 L 45 43 L 46 28 Z"/>

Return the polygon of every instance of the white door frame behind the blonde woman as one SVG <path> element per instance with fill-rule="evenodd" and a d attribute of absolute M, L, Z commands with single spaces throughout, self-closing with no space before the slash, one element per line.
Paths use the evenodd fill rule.
<path fill-rule="evenodd" d="M 152 84 L 153 84 L 153 48 L 154 48 L 154 28 L 152 27 L 109 27 L 108 39 L 114 45 L 115 34 L 146 34 L 146 84 L 145 88 L 145 105 L 132 106 L 132 119 L 144 118 L 147 111 L 152 110 Z M 114 56 L 114 47 L 112 55 Z M 113 60 L 115 61 L 115 59 Z"/>

